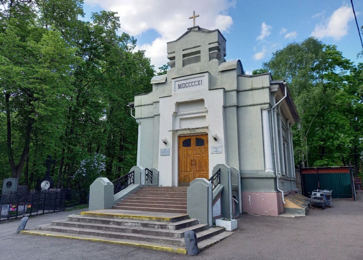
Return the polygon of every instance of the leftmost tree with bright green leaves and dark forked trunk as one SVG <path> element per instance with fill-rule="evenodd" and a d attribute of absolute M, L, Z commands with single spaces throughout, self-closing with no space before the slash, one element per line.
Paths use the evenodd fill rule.
<path fill-rule="evenodd" d="M 70 65 L 76 61 L 76 50 L 56 28 L 35 25 L 35 10 L 31 1 L 9 1 L 2 12 L 0 106 L 6 112 L 7 154 L 14 178 L 23 170 L 33 129 L 44 120 L 54 122 L 48 117 L 65 101 L 58 94 L 66 92 L 72 81 Z M 18 12 L 24 16 L 18 17 Z M 21 137 L 13 140 L 14 135 Z"/>

